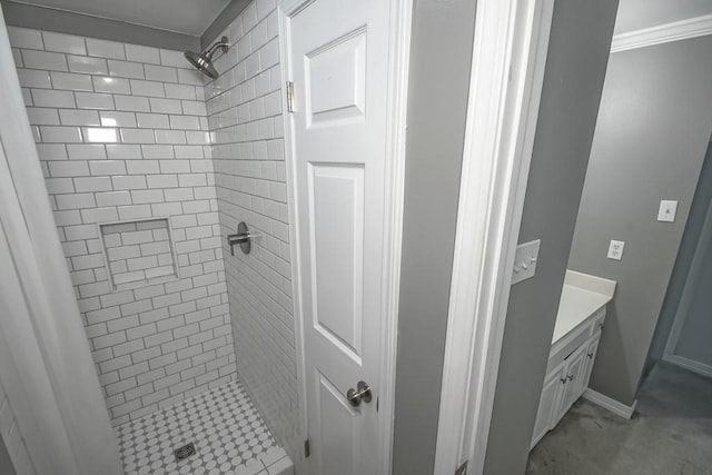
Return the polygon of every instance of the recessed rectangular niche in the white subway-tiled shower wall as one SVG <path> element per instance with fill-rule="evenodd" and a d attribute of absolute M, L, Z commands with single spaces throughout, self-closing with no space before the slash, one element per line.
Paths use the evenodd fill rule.
<path fill-rule="evenodd" d="M 113 290 L 178 278 L 167 218 L 100 228 Z"/>

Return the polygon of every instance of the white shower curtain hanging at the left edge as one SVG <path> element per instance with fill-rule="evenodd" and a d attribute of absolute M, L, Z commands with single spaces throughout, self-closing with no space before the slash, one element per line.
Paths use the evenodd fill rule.
<path fill-rule="evenodd" d="M 122 473 L 0 11 L 0 377 L 38 474 Z M 9 295 L 8 289 L 19 289 Z M 11 299 L 11 300 L 10 300 Z"/>

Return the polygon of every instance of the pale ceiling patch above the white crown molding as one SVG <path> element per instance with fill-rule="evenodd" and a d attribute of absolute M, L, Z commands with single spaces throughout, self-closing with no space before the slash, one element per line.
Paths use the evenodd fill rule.
<path fill-rule="evenodd" d="M 712 14 L 712 0 L 621 0 L 615 34 Z"/>

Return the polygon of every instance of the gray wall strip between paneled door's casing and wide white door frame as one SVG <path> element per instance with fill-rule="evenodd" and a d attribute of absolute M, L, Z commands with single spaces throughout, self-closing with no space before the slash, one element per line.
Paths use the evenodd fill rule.
<path fill-rule="evenodd" d="M 471 0 L 413 12 L 396 380 L 395 475 L 432 474 L 475 23 Z M 422 239 L 435 232 L 436 240 Z"/>

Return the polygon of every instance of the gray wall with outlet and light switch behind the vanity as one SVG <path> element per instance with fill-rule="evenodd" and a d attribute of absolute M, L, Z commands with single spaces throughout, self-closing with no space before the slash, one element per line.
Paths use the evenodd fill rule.
<path fill-rule="evenodd" d="M 712 37 L 611 56 L 571 269 L 619 283 L 590 386 L 630 405 L 712 130 Z M 659 222 L 661 199 L 679 200 Z M 611 239 L 623 260 L 606 259 Z"/>

